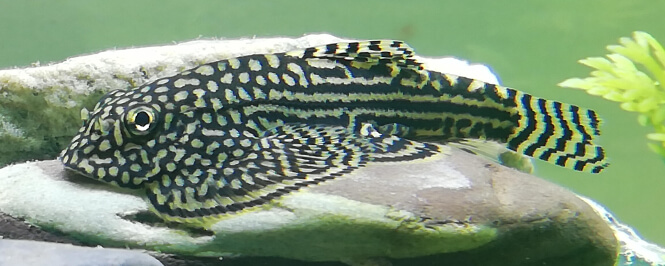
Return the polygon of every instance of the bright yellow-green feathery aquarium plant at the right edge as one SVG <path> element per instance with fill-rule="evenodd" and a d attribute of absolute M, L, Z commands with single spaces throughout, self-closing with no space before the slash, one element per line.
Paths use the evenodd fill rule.
<path fill-rule="evenodd" d="M 571 78 L 559 83 L 583 89 L 591 95 L 620 102 L 621 108 L 639 113 L 638 121 L 655 132 L 647 134 L 651 150 L 665 160 L 665 50 L 646 32 L 608 45 L 611 53 L 579 62 L 594 68 L 587 78 Z"/>

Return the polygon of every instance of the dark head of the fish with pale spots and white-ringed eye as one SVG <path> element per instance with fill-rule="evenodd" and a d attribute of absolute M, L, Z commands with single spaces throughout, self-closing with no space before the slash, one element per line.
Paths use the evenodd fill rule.
<path fill-rule="evenodd" d="M 81 110 L 82 127 L 59 156 L 68 170 L 137 188 L 155 171 L 149 147 L 161 123 L 158 103 L 138 91 L 106 94 L 92 111 Z"/>

